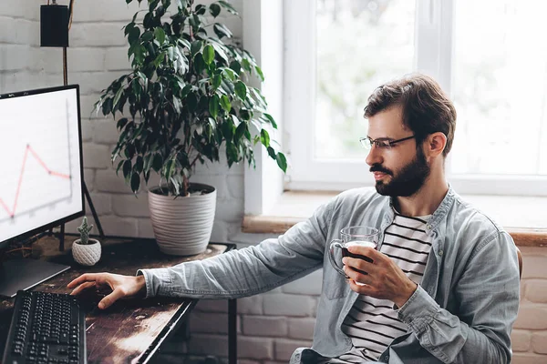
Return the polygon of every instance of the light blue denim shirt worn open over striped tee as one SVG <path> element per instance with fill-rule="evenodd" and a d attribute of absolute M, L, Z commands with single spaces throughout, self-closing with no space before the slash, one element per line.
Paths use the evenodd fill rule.
<path fill-rule="evenodd" d="M 351 189 L 279 238 L 139 274 L 149 297 L 243 298 L 323 268 L 313 346 L 297 349 L 291 362 L 334 358 L 352 347 L 341 327 L 358 294 L 331 266 L 329 242 L 339 238 L 342 227 L 366 225 L 379 228 L 379 248 L 393 219 L 389 197 L 369 188 Z M 451 187 L 426 231 L 433 242 L 421 285 L 403 307 L 394 307 L 408 332 L 394 339 L 379 361 L 509 363 L 520 292 L 511 236 Z"/>

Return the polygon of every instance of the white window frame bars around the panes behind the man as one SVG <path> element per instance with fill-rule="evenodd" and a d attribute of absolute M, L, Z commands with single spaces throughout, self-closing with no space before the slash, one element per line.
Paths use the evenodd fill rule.
<path fill-rule="evenodd" d="M 453 1 L 416 0 L 415 69 L 433 76 L 449 95 Z M 285 177 L 285 188 L 344 190 L 374 186 L 365 155 L 362 160 L 319 160 L 313 156 L 315 0 L 284 0 L 284 43 L 285 148 L 292 161 L 289 176 Z M 366 123 L 365 119 L 363 123 Z M 450 155 L 446 168 L 451 186 L 462 194 L 547 196 L 547 177 L 454 175 L 450 173 Z"/>

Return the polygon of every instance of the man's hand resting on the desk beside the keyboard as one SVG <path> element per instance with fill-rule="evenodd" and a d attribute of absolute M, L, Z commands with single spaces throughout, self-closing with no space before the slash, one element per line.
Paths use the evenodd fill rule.
<path fill-rule="evenodd" d="M 67 288 L 74 288 L 70 293 L 77 295 L 88 288 L 110 288 L 112 292 L 98 302 L 98 308 L 108 308 L 119 298 L 135 297 L 142 295 L 146 290 L 144 276 L 121 276 L 111 273 L 86 273 L 82 274 L 67 284 Z"/>

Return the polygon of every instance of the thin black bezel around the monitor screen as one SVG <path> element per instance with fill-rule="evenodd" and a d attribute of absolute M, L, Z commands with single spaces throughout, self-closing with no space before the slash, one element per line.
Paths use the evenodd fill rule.
<path fill-rule="evenodd" d="M 82 122 L 81 122 L 81 110 L 80 110 L 80 97 L 79 97 L 79 85 L 67 85 L 67 86 L 55 86 L 55 87 L 45 87 L 45 88 L 36 88 L 34 90 L 27 90 L 27 91 L 19 91 L 19 92 L 13 92 L 13 93 L 6 93 L 3 95 L 0 95 L 0 102 L 4 99 L 12 99 L 15 97 L 21 97 L 21 96 L 35 96 L 40 94 L 47 94 L 47 93 L 53 93 L 57 91 L 66 91 L 66 90 L 76 90 L 76 103 L 77 103 L 77 139 L 78 139 L 78 150 L 79 150 L 79 163 L 80 163 L 80 181 L 81 181 L 81 210 L 77 211 L 74 214 L 71 214 L 67 217 L 59 218 L 55 221 L 52 221 L 46 225 L 43 225 L 41 227 L 36 227 L 32 230 L 28 230 L 22 234 L 19 234 L 13 238 L 7 238 L 3 241 L 0 241 L 0 249 L 4 249 L 8 247 L 11 243 L 13 243 L 16 240 L 25 240 L 27 238 L 31 238 L 33 236 L 36 236 L 37 234 L 46 232 L 46 230 L 52 228 L 52 227 L 58 227 L 59 225 L 65 224 L 69 221 L 74 220 L 77 217 L 82 217 L 86 215 L 86 202 L 85 202 L 85 196 L 84 196 L 84 154 L 83 154 L 83 142 L 82 142 Z"/>

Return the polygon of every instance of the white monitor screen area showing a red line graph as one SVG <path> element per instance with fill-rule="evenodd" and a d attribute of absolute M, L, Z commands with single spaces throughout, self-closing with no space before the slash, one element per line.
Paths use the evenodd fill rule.
<path fill-rule="evenodd" d="M 25 122 L 19 110 L 2 117 L 0 143 L 10 153 L 0 156 L 0 230 L 66 214 L 80 198 L 78 148 L 71 145 L 78 131 L 70 125 L 77 109 L 67 99 L 51 102 L 46 109 L 26 110 Z"/>

